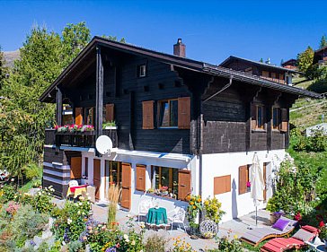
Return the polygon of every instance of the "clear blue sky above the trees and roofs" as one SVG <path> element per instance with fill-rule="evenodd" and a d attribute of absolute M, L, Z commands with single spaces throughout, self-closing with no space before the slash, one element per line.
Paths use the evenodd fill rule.
<path fill-rule="evenodd" d="M 190 58 L 212 64 L 227 56 L 279 64 L 327 34 L 327 1 L 4 1 L 0 45 L 22 46 L 33 24 L 60 32 L 85 21 L 92 35 L 172 53 L 181 38 Z"/>

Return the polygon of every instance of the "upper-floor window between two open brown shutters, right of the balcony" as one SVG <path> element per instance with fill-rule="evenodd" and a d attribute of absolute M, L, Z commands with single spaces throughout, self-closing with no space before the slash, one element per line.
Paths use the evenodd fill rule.
<path fill-rule="evenodd" d="M 160 100 L 159 108 L 159 127 L 178 126 L 178 100 Z"/>

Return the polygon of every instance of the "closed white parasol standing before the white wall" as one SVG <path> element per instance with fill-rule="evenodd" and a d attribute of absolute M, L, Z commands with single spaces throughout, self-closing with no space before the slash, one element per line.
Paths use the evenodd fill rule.
<path fill-rule="evenodd" d="M 258 225 L 258 205 L 263 201 L 264 180 L 257 152 L 254 153 L 251 167 L 251 197 L 255 205 L 255 224 Z"/>

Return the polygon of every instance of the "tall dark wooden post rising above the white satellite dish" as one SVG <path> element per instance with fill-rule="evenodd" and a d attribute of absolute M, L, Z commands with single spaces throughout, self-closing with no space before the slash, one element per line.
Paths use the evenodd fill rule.
<path fill-rule="evenodd" d="M 102 135 L 103 111 L 103 65 L 101 48 L 96 48 L 96 103 L 95 103 L 95 131 L 96 138 Z"/>

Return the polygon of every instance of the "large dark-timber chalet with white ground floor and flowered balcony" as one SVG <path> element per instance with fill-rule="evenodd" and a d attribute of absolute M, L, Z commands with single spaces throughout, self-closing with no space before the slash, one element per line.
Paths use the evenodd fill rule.
<path fill-rule="evenodd" d="M 76 56 L 40 101 L 57 104 L 58 126 L 69 105 L 76 125 L 95 130 L 46 129 L 44 187 L 65 197 L 69 180 L 79 179 L 106 201 L 118 184 L 120 206 L 132 213 L 141 199 L 169 211 L 187 205 L 189 194 L 217 196 L 228 220 L 254 210 L 247 182 L 257 152 L 270 198 L 270 175 L 288 146 L 289 108 L 299 96 L 319 95 L 285 85 L 289 69 L 252 64 L 245 74 L 185 57 L 181 39 L 173 47 L 169 55 L 94 37 Z M 261 69 L 283 82 L 261 78 Z M 116 126 L 103 129 L 105 121 Z M 96 152 L 100 135 L 110 136 L 110 155 Z M 167 194 L 153 193 L 163 187 Z"/>

